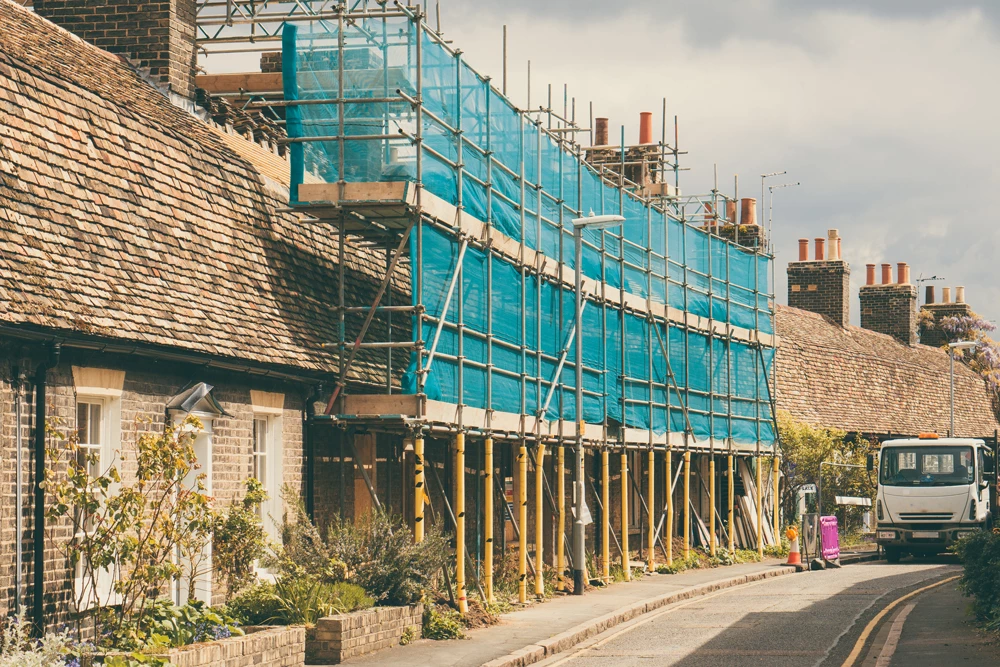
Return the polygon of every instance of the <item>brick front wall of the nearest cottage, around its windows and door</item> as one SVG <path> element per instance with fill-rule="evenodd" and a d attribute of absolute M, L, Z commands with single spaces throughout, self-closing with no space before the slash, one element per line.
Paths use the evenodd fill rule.
<path fill-rule="evenodd" d="M 0 613 L 14 607 L 15 562 L 15 420 L 13 391 L 10 382 L 11 362 L 16 353 L 4 349 L 0 341 Z M 32 378 L 39 359 L 29 360 L 29 378 Z M 205 381 L 215 386 L 213 395 L 231 416 L 215 420 L 213 427 L 212 495 L 220 507 L 225 507 L 243 489 L 243 482 L 253 470 L 253 444 L 251 441 L 253 410 L 250 390 L 280 392 L 285 395 L 282 415 L 283 475 L 275 483 L 275 492 L 281 485 L 301 491 L 304 477 L 302 450 L 302 406 L 308 388 L 265 378 L 250 379 L 244 375 L 214 372 L 180 364 L 162 365 L 138 358 L 115 357 L 97 353 L 80 353 L 64 350 L 61 363 L 49 371 L 47 382 L 47 418 L 63 432 L 75 428 L 76 391 L 73 382 L 73 365 L 112 368 L 125 371 L 121 395 L 121 449 L 126 478 L 134 474 L 134 457 L 129 456 L 138 437 L 147 431 L 162 431 L 166 420 L 166 405 L 192 381 Z M 24 576 L 25 607 L 29 614 L 33 605 L 33 539 L 34 539 L 34 386 L 27 384 L 22 405 L 22 448 L 24 457 L 24 556 L 21 570 Z M 57 450 L 59 442 L 51 441 Z M 115 443 L 112 443 L 114 446 Z M 64 458 L 64 457 L 63 457 Z M 50 461 L 51 464 L 51 461 Z M 63 463 L 64 465 L 64 463 Z M 56 466 L 56 472 L 59 472 Z M 45 590 L 44 613 L 49 627 L 69 622 L 72 618 L 73 585 L 70 567 L 62 545 L 71 537 L 69 521 L 47 522 L 45 539 Z M 222 601 L 224 591 L 216 585 L 213 602 Z"/>

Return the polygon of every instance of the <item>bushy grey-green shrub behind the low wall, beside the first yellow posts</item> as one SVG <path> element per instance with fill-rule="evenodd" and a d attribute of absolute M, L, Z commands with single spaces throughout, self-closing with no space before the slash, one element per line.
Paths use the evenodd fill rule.
<path fill-rule="evenodd" d="M 336 520 L 326 544 L 328 556 L 347 566 L 350 580 L 387 605 L 418 601 L 449 556 L 440 532 L 429 530 L 414 543 L 406 524 L 381 510 L 357 523 Z"/>

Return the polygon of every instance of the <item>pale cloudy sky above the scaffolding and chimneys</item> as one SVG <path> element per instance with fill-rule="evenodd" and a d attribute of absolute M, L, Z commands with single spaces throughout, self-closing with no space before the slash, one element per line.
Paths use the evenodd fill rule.
<path fill-rule="evenodd" d="M 434 0 L 431 16 L 434 16 Z M 923 286 L 964 285 L 1000 320 L 1000 3 L 968 0 L 440 0 L 441 27 L 499 80 L 508 26 L 508 94 L 533 106 L 553 84 L 578 117 L 610 118 L 638 140 L 640 111 L 679 117 L 685 194 L 760 197 L 787 171 L 773 238 L 780 302 L 797 239 L 836 228 L 859 320 L 865 264 L 908 262 Z M 940 297 L 939 297 L 940 298 Z"/>

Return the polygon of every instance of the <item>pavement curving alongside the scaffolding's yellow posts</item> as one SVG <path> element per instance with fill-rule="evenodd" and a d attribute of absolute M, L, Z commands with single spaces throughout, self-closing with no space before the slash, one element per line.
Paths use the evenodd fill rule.
<path fill-rule="evenodd" d="M 792 575 L 770 559 L 680 574 L 652 574 L 588 591 L 559 595 L 504 614 L 499 624 L 467 632 L 467 639 L 420 640 L 347 661 L 385 667 L 521 667 L 572 648 L 588 637 L 660 607 L 748 581 Z M 802 575 L 797 575 L 802 576 Z"/>

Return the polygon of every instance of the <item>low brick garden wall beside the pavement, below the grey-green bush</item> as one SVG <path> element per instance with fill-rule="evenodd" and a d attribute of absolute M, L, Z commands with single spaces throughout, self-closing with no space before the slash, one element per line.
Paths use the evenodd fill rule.
<path fill-rule="evenodd" d="M 407 628 L 420 637 L 424 606 L 375 607 L 327 616 L 316 622 L 306 639 L 307 665 L 336 665 L 348 658 L 399 644 Z"/>

